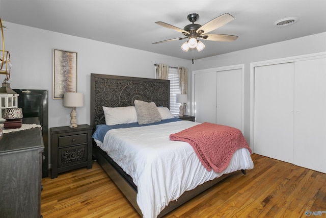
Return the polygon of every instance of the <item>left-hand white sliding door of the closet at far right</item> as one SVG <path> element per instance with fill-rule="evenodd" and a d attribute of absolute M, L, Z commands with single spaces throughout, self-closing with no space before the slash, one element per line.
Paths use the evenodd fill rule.
<path fill-rule="evenodd" d="M 254 152 L 293 163 L 294 63 L 255 67 Z"/>

